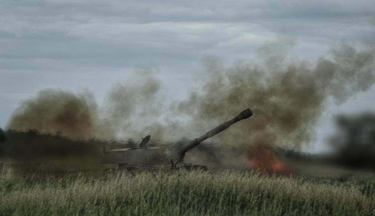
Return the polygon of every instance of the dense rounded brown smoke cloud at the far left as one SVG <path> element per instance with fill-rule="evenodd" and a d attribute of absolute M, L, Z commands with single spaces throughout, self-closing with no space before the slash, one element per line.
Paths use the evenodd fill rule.
<path fill-rule="evenodd" d="M 63 133 L 72 138 L 93 137 L 97 127 L 97 106 L 89 92 L 45 89 L 14 111 L 9 129 Z"/>

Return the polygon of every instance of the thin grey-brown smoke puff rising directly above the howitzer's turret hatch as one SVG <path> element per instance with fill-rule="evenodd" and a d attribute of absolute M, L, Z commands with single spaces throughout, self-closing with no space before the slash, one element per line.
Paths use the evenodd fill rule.
<path fill-rule="evenodd" d="M 152 69 L 139 69 L 123 84 L 115 85 L 102 107 L 100 138 L 158 136 L 157 121 L 163 114 L 161 80 Z M 155 125 L 155 128 L 148 127 Z M 106 133 L 103 134 L 102 132 Z M 160 137 L 160 136 L 159 136 Z"/>

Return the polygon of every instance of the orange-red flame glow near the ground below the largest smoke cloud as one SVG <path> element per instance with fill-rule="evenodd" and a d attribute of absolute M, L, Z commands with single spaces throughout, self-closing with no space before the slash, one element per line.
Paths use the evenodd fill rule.
<path fill-rule="evenodd" d="M 276 175 L 291 175 L 290 168 L 276 157 L 271 148 L 257 145 L 247 152 L 247 159 L 253 169 Z"/>

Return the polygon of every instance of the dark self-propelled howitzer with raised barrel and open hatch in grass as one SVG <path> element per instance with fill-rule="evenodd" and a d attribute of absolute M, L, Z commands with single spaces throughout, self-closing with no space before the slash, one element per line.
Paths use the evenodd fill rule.
<path fill-rule="evenodd" d="M 203 165 L 193 165 L 183 163 L 185 153 L 190 149 L 194 148 L 198 144 L 207 140 L 208 138 L 215 136 L 216 134 L 229 128 L 234 123 L 247 119 L 252 115 L 250 108 L 245 109 L 235 118 L 222 123 L 214 129 L 208 131 L 206 134 L 199 138 L 196 138 L 185 144 L 174 144 L 171 146 L 160 146 L 160 147 L 147 147 L 147 143 L 150 140 L 150 136 L 145 137 L 139 147 L 136 148 L 125 148 L 125 149 L 113 149 L 104 150 L 102 157 L 102 163 L 105 164 L 118 164 L 119 169 L 134 170 L 139 168 L 146 169 L 166 169 L 176 168 L 176 164 L 183 166 L 185 169 L 195 169 L 207 167 Z"/>

